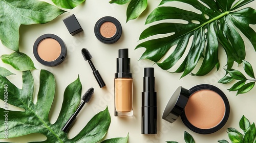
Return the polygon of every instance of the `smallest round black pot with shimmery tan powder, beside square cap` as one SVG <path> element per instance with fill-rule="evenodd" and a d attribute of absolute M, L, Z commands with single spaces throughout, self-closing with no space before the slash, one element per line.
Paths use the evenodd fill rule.
<path fill-rule="evenodd" d="M 105 16 L 96 22 L 94 33 L 101 42 L 112 44 L 118 41 L 121 37 L 122 26 L 116 18 Z"/>

